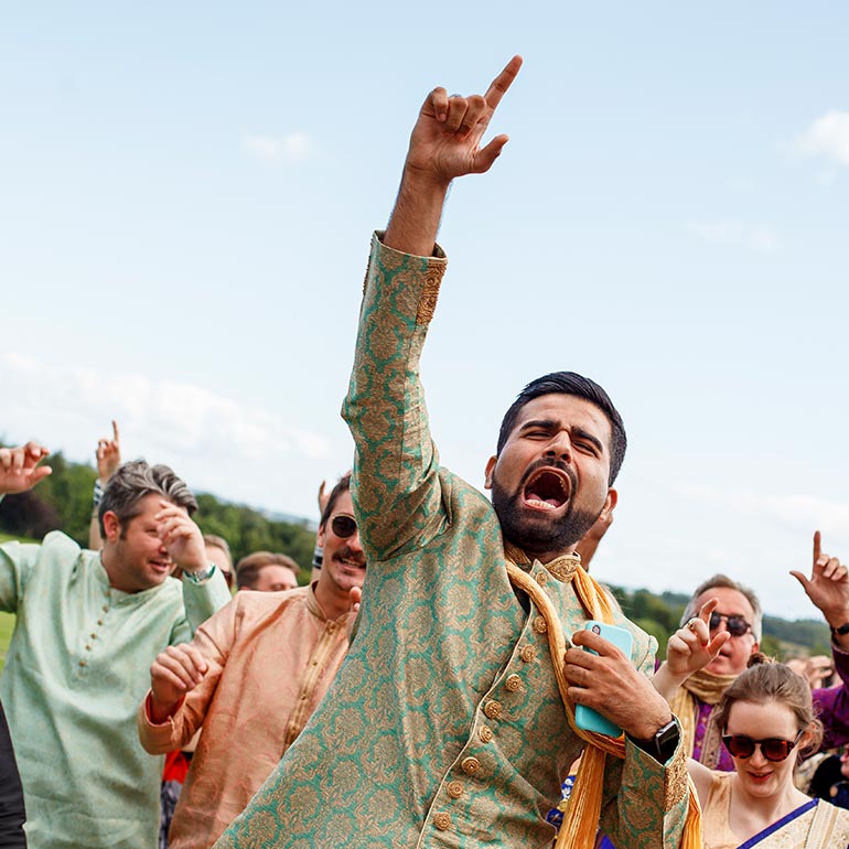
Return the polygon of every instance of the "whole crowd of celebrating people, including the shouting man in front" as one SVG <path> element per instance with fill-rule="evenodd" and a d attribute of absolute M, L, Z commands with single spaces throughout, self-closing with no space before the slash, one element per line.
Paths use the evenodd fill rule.
<path fill-rule="evenodd" d="M 439 463 L 419 379 L 438 228 L 452 181 L 506 144 L 482 140 L 520 65 L 420 110 L 372 244 L 343 406 L 353 471 L 320 493 L 309 583 L 283 552 L 234 568 L 171 469 L 121 462 L 117 426 L 88 548 L 61 531 L 0 545 L 17 614 L 2 846 L 849 846 L 849 574 L 818 533 L 793 576 L 830 627 L 836 685 L 763 656 L 757 595 L 724 574 L 696 588 L 657 666 L 589 571 L 626 449 L 601 386 L 556 372 L 522 390 L 491 498 Z M 0 449 L 0 496 L 36 486 L 46 456 Z"/>

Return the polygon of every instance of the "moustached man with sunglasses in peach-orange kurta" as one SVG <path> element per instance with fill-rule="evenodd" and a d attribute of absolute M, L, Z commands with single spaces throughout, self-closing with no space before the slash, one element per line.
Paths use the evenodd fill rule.
<path fill-rule="evenodd" d="M 202 729 L 171 849 L 215 842 L 307 724 L 345 657 L 365 577 L 348 481 L 336 485 L 322 517 L 326 568 L 319 581 L 239 592 L 191 644 L 163 652 L 151 667 L 139 709 L 144 749 L 180 749 Z"/>

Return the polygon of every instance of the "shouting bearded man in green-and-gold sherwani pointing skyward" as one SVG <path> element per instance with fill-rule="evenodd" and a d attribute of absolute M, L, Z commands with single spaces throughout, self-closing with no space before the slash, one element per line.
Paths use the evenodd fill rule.
<path fill-rule="evenodd" d="M 582 627 L 571 552 L 612 508 L 624 430 L 600 387 L 559 373 L 576 388 L 520 397 L 505 417 L 486 470 L 491 504 L 440 466 L 419 383 L 445 267 L 434 238 L 448 182 L 487 170 L 506 141 L 477 148 L 518 65 L 486 98 L 436 89 L 413 130 L 389 228 L 373 241 L 343 409 L 368 562 L 357 633 L 310 723 L 216 849 L 551 846 L 546 813 L 584 744 L 567 721 L 548 621 L 507 563 L 542 588 L 569 636 Z M 673 849 L 687 810 L 678 730 L 647 678 L 655 642 L 621 614 L 619 624 L 640 671 L 589 632 L 572 640 L 599 655 L 571 648 L 565 667 L 573 700 L 630 735 L 624 761 L 608 759 L 601 825 L 623 849 Z"/>

